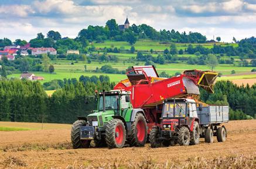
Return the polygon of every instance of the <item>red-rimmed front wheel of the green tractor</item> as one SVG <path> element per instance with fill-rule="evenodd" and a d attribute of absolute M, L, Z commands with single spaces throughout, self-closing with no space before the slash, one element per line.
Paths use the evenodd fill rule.
<path fill-rule="evenodd" d="M 122 120 L 112 119 L 107 123 L 105 132 L 105 141 L 108 148 L 124 147 L 126 139 L 125 126 Z"/>

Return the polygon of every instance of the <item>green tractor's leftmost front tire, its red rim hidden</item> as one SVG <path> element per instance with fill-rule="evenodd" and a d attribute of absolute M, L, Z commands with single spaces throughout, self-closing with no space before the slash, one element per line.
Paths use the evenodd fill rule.
<path fill-rule="evenodd" d="M 80 127 L 86 126 L 85 120 L 77 120 L 73 123 L 71 127 L 71 142 L 73 149 L 78 148 L 88 148 L 90 146 L 91 140 L 80 140 Z"/>

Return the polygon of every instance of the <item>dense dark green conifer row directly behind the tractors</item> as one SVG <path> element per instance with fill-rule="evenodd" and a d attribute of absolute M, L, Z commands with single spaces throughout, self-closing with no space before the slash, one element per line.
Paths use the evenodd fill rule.
<path fill-rule="evenodd" d="M 104 78 L 104 77 L 102 77 Z M 73 123 L 97 109 L 95 91 L 110 90 L 114 82 L 63 81 L 63 87 L 47 96 L 38 81 L 0 81 L 0 120 L 12 122 Z M 90 78 L 89 78 L 90 79 Z M 207 104 L 229 105 L 230 120 L 251 119 L 256 113 L 256 85 L 241 86 L 218 81 L 214 94 L 202 90 L 200 98 Z"/>

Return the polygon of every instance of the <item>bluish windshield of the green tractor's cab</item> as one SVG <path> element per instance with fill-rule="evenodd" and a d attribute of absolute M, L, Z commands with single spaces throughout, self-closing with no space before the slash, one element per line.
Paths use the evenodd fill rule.
<path fill-rule="evenodd" d="M 118 95 L 105 95 L 105 109 L 117 110 L 118 109 Z M 103 111 L 103 96 L 100 96 L 100 102 L 98 104 L 99 111 Z"/>

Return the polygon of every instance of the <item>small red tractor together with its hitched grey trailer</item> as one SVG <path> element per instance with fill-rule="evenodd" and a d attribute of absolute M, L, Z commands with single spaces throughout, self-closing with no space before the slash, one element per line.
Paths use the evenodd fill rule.
<path fill-rule="evenodd" d="M 228 122 L 228 106 L 205 105 L 194 99 L 165 99 L 161 125 L 153 126 L 149 134 L 151 147 L 180 146 L 199 144 L 204 137 L 206 143 L 224 142 L 227 130 L 223 123 Z"/>

